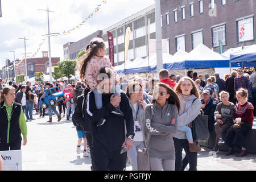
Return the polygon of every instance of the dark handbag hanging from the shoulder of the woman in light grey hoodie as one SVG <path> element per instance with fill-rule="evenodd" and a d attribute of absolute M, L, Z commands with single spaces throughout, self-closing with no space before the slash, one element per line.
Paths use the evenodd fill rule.
<path fill-rule="evenodd" d="M 193 102 L 195 100 L 193 100 Z M 200 114 L 197 115 L 197 117 L 192 121 L 191 130 L 192 130 L 192 137 L 194 141 L 200 142 L 200 141 L 208 140 L 210 136 L 209 130 L 208 130 L 208 115 L 204 115 L 203 110 L 201 110 Z"/>

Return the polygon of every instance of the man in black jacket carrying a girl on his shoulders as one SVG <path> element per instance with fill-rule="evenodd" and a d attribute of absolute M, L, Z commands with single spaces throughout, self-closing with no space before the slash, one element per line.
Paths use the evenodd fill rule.
<path fill-rule="evenodd" d="M 122 171 L 126 167 L 126 152 L 133 147 L 133 111 L 124 92 L 115 97 L 112 92 L 110 93 L 114 83 L 111 69 L 102 68 L 100 73 L 105 73 L 107 76 L 102 79 L 100 84 L 103 85 L 101 88 L 104 90 L 102 94 L 103 107 L 97 109 L 93 92 L 89 92 L 87 96 L 87 112 L 92 121 L 94 166 L 96 171 Z M 123 116 L 112 113 L 114 106 L 118 104 Z M 104 118 L 105 122 L 103 125 L 97 126 L 97 122 L 101 121 L 101 118 Z M 120 154 L 122 148 L 125 147 L 125 152 Z"/>

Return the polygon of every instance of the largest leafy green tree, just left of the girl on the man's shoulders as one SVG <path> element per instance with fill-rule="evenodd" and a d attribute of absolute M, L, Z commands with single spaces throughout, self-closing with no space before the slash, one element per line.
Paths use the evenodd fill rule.
<path fill-rule="evenodd" d="M 64 60 L 58 63 L 60 73 L 67 77 L 68 80 L 73 76 L 75 76 L 76 70 L 76 60 Z"/>

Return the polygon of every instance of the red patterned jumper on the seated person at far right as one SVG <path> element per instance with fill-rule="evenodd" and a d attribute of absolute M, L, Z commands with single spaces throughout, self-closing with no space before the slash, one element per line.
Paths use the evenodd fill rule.
<path fill-rule="evenodd" d="M 241 105 L 239 102 L 234 108 L 234 119 L 241 118 L 242 122 L 253 124 L 253 105 L 250 102 L 246 102 Z"/>

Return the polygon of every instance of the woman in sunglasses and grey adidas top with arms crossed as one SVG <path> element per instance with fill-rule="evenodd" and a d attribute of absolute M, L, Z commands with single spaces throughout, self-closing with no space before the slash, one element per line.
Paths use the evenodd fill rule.
<path fill-rule="evenodd" d="M 145 123 L 150 148 L 152 171 L 174 171 L 175 150 L 172 135 L 177 132 L 180 101 L 177 94 L 164 83 L 155 85 L 152 104 L 146 105 Z"/>

